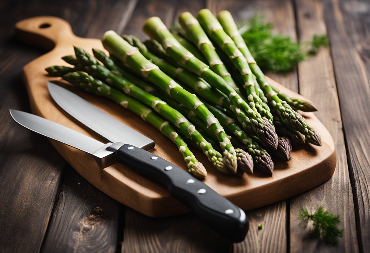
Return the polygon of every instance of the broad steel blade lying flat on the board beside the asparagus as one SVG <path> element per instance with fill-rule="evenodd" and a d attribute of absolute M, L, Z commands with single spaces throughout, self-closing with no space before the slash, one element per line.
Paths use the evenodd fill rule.
<path fill-rule="evenodd" d="M 48 90 L 64 111 L 109 141 L 123 142 L 145 150 L 154 148 L 155 142 L 152 139 L 129 128 L 73 92 L 51 82 L 48 82 Z"/>

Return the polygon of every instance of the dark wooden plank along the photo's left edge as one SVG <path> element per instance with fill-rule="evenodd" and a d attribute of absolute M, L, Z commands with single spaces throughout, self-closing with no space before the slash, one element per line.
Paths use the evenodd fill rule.
<path fill-rule="evenodd" d="M 37 252 L 61 186 L 64 161 L 46 138 L 19 126 L 9 108 L 29 111 L 21 68 L 42 54 L 12 38 L 20 6 L 2 1 L 0 58 L 0 251 Z"/>

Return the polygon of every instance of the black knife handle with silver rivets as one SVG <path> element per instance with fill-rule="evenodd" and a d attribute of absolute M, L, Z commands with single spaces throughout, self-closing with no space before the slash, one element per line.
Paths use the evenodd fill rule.
<path fill-rule="evenodd" d="M 233 242 L 244 240 L 249 223 L 243 210 L 188 172 L 129 144 L 118 149 L 117 161 L 166 186 L 171 196 L 187 206 L 202 222 L 219 234 Z"/>

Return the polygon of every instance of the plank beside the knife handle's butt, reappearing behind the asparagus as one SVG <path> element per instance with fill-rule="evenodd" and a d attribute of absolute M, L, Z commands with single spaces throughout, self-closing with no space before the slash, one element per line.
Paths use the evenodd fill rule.
<path fill-rule="evenodd" d="M 229 10 L 235 22 L 252 18 L 256 13 L 265 16 L 265 21 L 273 24 L 274 33 L 282 33 L 296 38 L 295 16 L 291 1 L 218 1 L 209 2 L 209 9 L 217 14 Z M 266 72 L 269 77 L 290 90 L 298 92 L 296 69 L 286 75 Z M 289 200 L 286 200 L 289 202 Z M 248 212 L 250 228 L 242 243 L 234 244 L 234 252 L 285 252 L 287 250 L 286 201 L 280 201 Z M 288 213 L 289 215 L 289 213 Z M 263 229 L 259 230 L 258 225 Z"/>

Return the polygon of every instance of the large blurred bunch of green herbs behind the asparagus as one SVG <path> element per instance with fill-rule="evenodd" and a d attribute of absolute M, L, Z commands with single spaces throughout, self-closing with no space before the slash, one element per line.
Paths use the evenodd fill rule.
<path fill-rule="evenodd" d="M 265 23 L 258 15 L 239 25 L 250 52 L 265 70 L 287 72 L 309 54 L 316 54 L 321 46 L 329 45 L 325 35 L 314 35 L 312 41 L 299 43 L 281 34 L 274 35 L 271 29 L 272 24 Z"/>

